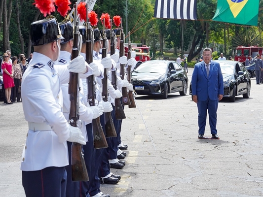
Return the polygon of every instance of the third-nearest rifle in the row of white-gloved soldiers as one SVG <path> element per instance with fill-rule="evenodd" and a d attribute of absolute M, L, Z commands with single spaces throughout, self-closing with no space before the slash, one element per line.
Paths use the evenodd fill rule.
<path fill-rule="evenodd" d="M 105 24 L 105 22 L 103 22 Z M 103 28 L 104 29 L 104 28 Z M 103 30 L 103 46 L 102 46 L 102 59 L 106 58 L 107 56 L 107 49 L 106 49 L 106 33 Z M 108 70 L 104 68 L 104 78 L 102 79 L 102 99 L 105 102 L 108 102 Z M 105 112 L 105 130 L 106 130 L 106 137 L 116 137 L 117 133 L 115 131 L 115 127 L 113 124 L 113 118 L 111 112 Z"/>

